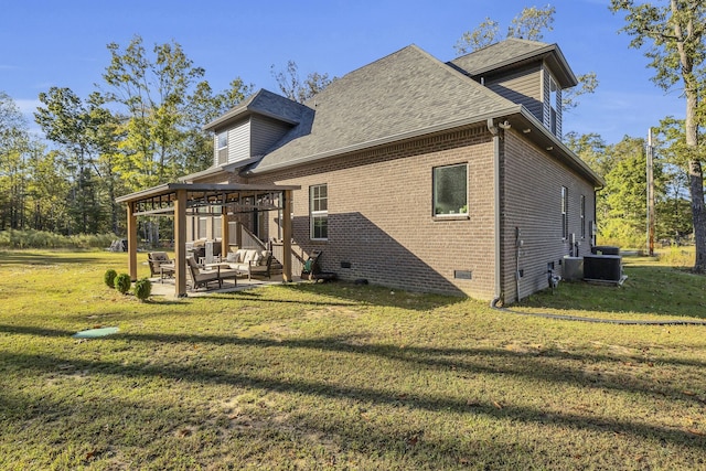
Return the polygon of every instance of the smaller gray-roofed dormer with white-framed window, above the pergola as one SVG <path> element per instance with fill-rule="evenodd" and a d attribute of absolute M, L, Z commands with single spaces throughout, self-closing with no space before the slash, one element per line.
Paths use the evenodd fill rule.
<path fill-rule="evenodd" d="M 303 105 L 260 89 L 245 101 L 203 127 L 214 132 L 213 167 L 264 156 L 306 119 Z"/>

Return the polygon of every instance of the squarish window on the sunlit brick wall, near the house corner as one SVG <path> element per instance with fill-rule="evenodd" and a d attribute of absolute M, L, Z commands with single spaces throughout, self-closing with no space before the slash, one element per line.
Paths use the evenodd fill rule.
<path fill-rule="evenodd" d="M 468 165 L 434 169 L 434 215 L 468 215 Z"/>

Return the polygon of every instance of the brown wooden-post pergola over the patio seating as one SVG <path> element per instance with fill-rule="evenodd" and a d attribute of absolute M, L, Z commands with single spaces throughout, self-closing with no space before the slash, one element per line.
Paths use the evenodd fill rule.
<path fill-rule="evenodd" d="M 131 280 L 137 279 L 137 216 L 161 215 L 174 218 L 174 296 L 186 296 L 186 215 L 199 207 L 221 207 L 222 254 L 228 251 L 228 207 L 233 208 L 245 199 L 253 202 L 268 200 L 266 211 L 281 208 L 284 240 L 282 280 L 291 281 L 291 192 L 296 185 L 253 185 L 240 183 L 165 183 L 116 199 L 127 204 L 128 271 Z M 274 195 L 278 195 L 279 206 L 274 207 Z"/>

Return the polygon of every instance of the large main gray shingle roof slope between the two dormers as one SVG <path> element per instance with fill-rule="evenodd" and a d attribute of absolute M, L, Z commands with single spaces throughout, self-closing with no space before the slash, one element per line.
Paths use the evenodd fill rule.
<path fill-rule="evenodd" d="M 253 172 L 520 109 L 415 45 L 344 75 L 304 105 L 313 121 L 292 129 L 297 138 L 286 136 Z"/>

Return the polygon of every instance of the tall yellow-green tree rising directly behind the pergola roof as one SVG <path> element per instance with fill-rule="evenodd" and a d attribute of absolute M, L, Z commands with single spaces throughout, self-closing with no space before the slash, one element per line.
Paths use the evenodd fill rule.
<path fill-rule="evenodd" d="M 103 78 L 106 99 L 118 106 L 120 135 L 113 168 L 127 191 L 139 191 L 203 170 L 213 162 L 213 137 L 201 128 L 252 93 L 240 78 L 214 94 L 180 44 L 157 44 L 150 54 L 140 36 L 127 47 L 108 44 Z M 159 240 L 159 223 L 146 228 Z M 171 225 L 168 225 L 171 227 Z"/>

